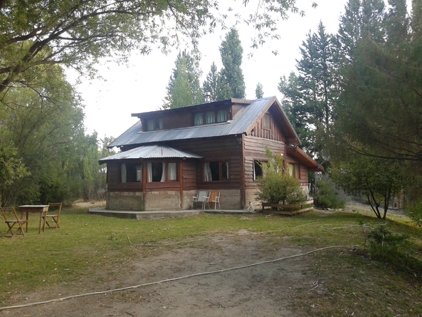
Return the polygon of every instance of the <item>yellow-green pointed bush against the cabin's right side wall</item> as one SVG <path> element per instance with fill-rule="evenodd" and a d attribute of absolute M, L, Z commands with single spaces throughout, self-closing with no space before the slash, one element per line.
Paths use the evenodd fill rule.
<path fill-rule="evenodd" d="M 262 163 L 263 178 L 258 180 L 257 198 L 272 204 L 297 204 L 306 201 L 299 182 L 285 169 L 283 157 L 273 156 L 267 148 L 268 162 Z"/>

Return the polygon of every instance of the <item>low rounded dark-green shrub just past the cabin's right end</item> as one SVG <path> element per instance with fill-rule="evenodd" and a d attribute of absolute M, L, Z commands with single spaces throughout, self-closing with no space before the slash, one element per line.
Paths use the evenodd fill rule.
<path fill-rule="evenodd" d="M 340 209 L 346 205 L 346 199 L 339 195 L 332 182 L 320 180 L 317 182 L 314 204 L 320 208 Z"/>

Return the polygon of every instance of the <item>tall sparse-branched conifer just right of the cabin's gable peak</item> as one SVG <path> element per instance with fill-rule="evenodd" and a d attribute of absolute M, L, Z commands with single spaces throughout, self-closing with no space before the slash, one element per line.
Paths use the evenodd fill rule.
<path fill-rule="evenodd" d="M 334 122 L 335 104 L 339 90 L 335 72 L 332 36 L 325 32 L 322 22 L 316 33 L 308 33 L 300 48 L 301 58 L 297 61 L 298 76 L 288 80 L 281 78 L 278 89 L 283 93 L 283 105 L 290 118 L 294 118 L 297 132 L 305 137 L 304 149 L 312 156 L 318 156 L 320 145 L 315 135 L 329 130 Z"/>

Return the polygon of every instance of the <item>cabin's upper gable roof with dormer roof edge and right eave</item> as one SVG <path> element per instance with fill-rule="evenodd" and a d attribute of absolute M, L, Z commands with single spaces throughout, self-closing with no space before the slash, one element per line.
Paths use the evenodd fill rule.
<path fill-rule="evenodd" d="M 139 120 L 138 123 L 135 123 L 131 128 L 124 132 L 120 137 L 117 137 L 108 147 L 122 147 L 125 145 L 142 145 L 150 144 L 154 142 L 166 142 L 171 140 L 187 140 L 201 137 L 221 137 L 226 135 L 248 135 L 253 129 L 255 124 L 263 117 L 263 115 L 268 111 L 273 105 L 278 113 L 280 113 L 280 118 L 282 118 L 282 124 L 280 128 L 283 130 L 288 139 L 292 140 L 292 143 L 301 144 L 300 139 L 295 132 L 295 129 L 292 127 L 292 124 L 288 120 L 287 115 L 285 114 L 283 108 L 278 102 L 277 98 L 260 98 L 257 100 L 239 100 L 239 99 L 230 99 L 223 100 L 216 103 L 235 103 L 244 104 L 241 110 L 236 113 L 233 120 L 228 120 L 224 123 L 215 123 L 211 125 L 195 125 L 186 128 L 176 128 L 171 130 L 153 130 L 153 131 L 142 131 L 142 123 Z M 214 103 L 214 104 L 216 104 Z M 157 112 L 177 112 L 180 109 L 194 110 L 195 108 L 204 108 L 207 104 L 204 105 L 194 105 L 184 108 L 169 109 L 169 110 L 158 110 Z M 144 114 L 152 114 L 144 113 Z M 133 114 L 132 116 L 137 116 L 138 118 L 142 117 L 142 113 Z"/>

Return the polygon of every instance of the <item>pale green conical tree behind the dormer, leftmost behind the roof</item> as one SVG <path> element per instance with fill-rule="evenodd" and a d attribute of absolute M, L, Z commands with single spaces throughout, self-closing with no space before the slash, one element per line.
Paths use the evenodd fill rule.
<path fill-rule="evenodd" d="M 204 103 L 204 93 L 199 83 L 201 70 L 198 61 L 185 50 L 179 52 L 174 64 L 163 108 L 179 108 Z"/>

